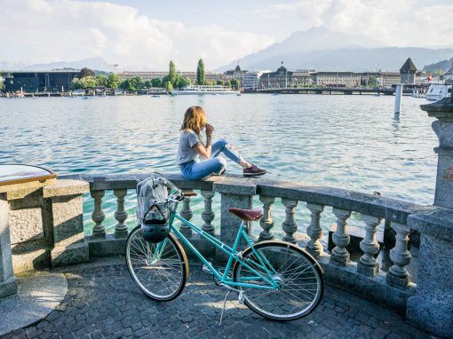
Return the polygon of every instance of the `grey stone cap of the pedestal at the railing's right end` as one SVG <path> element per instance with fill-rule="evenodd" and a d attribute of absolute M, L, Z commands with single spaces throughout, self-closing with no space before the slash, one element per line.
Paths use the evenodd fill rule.
<path fill-rule="evenodd" d="M 422 234 L 453 240 L 453 210 L 436 207 L 431 212 L 411 214 L 408 217 L 411 229 Z"/>

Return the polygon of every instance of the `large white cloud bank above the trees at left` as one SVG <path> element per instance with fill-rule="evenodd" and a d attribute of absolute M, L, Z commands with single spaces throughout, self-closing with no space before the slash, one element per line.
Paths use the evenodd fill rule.
<path fill-rule="evenodd" d="M 213 69 L 274 43 L 266 35 L 188 27 L 107 2 L 3 0 L 0 18 L 0 58 L 29 63 L 103 57 L 121 68 L 162 70 L 175 59 L 189 70 L 202 57 Z"/>

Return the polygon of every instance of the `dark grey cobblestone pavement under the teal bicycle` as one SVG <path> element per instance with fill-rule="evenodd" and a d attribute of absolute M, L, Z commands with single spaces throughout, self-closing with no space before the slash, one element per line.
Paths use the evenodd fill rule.
<path fill-rule="evenodd" d="M 401 315 L 326 286 L 320 306 L 292 322 L 261 318 L 228 296 L 199 264 L 175 300 L 157 303 L 132 282 L 124 264 L 67 268 L 68 295 L 57 310 L 13 338 L 428 338 Z"/>

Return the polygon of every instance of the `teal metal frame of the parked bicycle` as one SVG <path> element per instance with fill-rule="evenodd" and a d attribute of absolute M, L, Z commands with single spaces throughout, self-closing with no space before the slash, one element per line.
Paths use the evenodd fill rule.
<path fill-rule="evenodd" d="M 192 252 L 194 252 L 195 256 L 197 256 L 202 261 L 202 263 L 211 271 L 211 273 L 219 280 L 220 284 L 225 284 L 227 286 L 233 286 L 233 287 L 242 287 L 242 288 L 259 288 L 259 289 L 276 289 L 276 288 L 278 288 L 278 284 L 274 280 L 274 275 L 276 275 L 277 272 L 275 272 L 274 267 L 272 267 L 272 264 L 270 264 L 267 261 L 266 257 L 262 256 L 261 254 L 258 253 L 258 251 L 255 250 L 255 248 L 253 247 L 253 241 L 250 240 L 250 237 L 245 232 L 245 225 L 244 225 L 243 221 L 242 221 L 241 225 L 239 226 L 239 230 L 237 232 L 236 239 L 234 240 L 233 247 L 229 247 L 222 241 L 213 237 L 210 233 L 204 232 L 202 229 L 200 229 L 197 226 L 190 223 L 184 217 L 180 217 L 179 215 L 177 215 L 176 214 L 177 207 L 178 207 L 178 204 L 175 204 L 174 208 L 171 210 L 171 217 L 170 217 L 171 232 L 175 233 L 179 237 L 179 239 L 182 240 L 182 242 L 187 246 L 187 248 L 190 248 L 190 250 L 192 250 Z M 195 248 L 195 246 L 192 245 L 190 240 L 187 240 L 187 238 L 184 236 L 184 234 L 179 232 L 179 230 L 173 225 L 175 218 L 178 219 L 184 225 L 187 225 L 195 233 L 198 233 L 201 237 L 203 237 L 203 239 L 208 240 L 216 248 L 219 248 L 219 250 L 221 250 L 227 254 L 228 261 L 227 261 L 227 265 L 225 266 L 225 272 L 221 273 L 221 272 L 219 272 L 219 270 L 216 270 L 211 265 L 211 263 Z M 244 239 L 247 242 L 247 244 L 250 246 L 251 250 L 255 254 L 255 257 L 258 259 L 258 262 L 242 258 L 242 252 L 237 251 L 237 248 L 239 247 L 239 243 L 240 243 L 241 239 Z M 165 247 L 166 241 L 168 241 L 168 240 L 165 239 L 157 245 L 157 248 L 155 250 L 155 255 L 153 256 L 152 260 L 155 259 L 155 256 L 157 256 L 157 257 L 161 256 L 163 248 Z M 234 264 L 234 262 L 241 263 L 243 266 L 248 268 L 250 270 L 250 272 L 252 272 L 252 274 L 254 274 L 253 276 L 250 276 L 250 277 L 242 277 L 243 280 L 248 280 L 248 281 L 257 280 L 257 282 L 264 281 L 264 282 L 266 282 L 266 284 L 258 285 L 258 284 L 253 284 L 250 282 L 233 281 L 233 277 L 230 277 L 228 275 L 228 272 L 231 268 L 231 265 Z M 263 274 L 262 272 L 258 272 L 257 269 L 253 268 L 252 266 L 255 266 L 255 268 L 261 270 L 262 272 L 265 272 L 266 274 Z"/>

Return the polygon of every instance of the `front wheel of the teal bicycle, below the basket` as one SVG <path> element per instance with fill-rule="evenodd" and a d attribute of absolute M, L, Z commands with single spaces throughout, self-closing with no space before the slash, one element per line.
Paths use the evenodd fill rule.
<path fill-rule="evenodd" d="M 169 301 L 186 285 L 188 263 L 184 249 L 170 233 L 159 243 L 143 238 L 140 226 L 126 241 L 126 264 L 132 280 L 151 299 Z"/>

